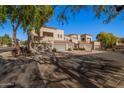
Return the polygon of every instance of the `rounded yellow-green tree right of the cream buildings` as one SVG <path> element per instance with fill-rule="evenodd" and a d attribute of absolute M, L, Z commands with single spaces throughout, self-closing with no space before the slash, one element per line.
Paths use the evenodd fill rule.
<path fill-rule="evenodd" d="M 118 41 L 118 37 L 114 36 L 112 33 L 106 32 L 100 32 L 96 39 L 102 43 L 102 47 L 104 48 L 111 48 Z"/>

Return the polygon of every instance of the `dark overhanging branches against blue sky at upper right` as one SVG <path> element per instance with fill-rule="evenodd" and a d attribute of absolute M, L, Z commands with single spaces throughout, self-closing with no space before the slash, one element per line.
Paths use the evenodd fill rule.
<path fill-rule="evenodd" d="M 90 8 L 94 14 L 95 18 L 100 19 L 102 17 L 103 23 L 109 23 L 115 19 L 119 14 L 124 10 L 123 5 L 66 5 L 66 6 L 57 6 L 60 11 L 58 13 L 58 20 L 64 24 L 68 22 L 69 15 L 76 15 L 83 9 Z"/>

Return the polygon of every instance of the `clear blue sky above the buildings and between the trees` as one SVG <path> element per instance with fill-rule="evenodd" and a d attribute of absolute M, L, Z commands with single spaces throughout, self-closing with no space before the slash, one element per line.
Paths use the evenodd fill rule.
<path fill-rule="evenodd" d="M 65 23 L 64 25 L 61 25 L 56 20 L 56 16 L 53 16 L 53 18 L 46 23 L 46 26 L 63 29 L 65 34 L 91 34 L 93 35 L 93 40 L 95 40 L 96 35 L 101 31 L 112 32 L 119 37 L 124 37 L 124 20 L 121 19 L 121 16 L 122 15 L 118 16 L 108 24 L 103 24 L 103 19 L 96 19 L 95 14 L 93 11 L 91 11 L 91 9 L 84 9 L 80 13 L 76 14 L 76 16 L 72 16 L 70 14 L 68 23 Z M 0 36 L 4 35 L 5 33 L 12 36 L 10 22 L 6 23 L 4 27 L 0 27 Z M 20 40 L 26 40 L 27 35 L 22 29 L 19 28 L 17 38 Z"/>

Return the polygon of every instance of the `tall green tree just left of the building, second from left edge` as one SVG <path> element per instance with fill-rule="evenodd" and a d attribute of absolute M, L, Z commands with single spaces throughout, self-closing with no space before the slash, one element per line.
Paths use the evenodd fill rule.
<path fill-rule="evenodd" d="M 45 25 L 46 22 L 53 15 L 53 7 L 52 6 L 24 6 L 23 7 L 23 19 L 21 27 L 28 35 L 28 49 L 33 51 L 32 48 L 32 35 L 31 31 L 34 30 L 38 36 L 39 31 L 42 26 Z M 40 39 L 39 39 L 40 40 Z"/>

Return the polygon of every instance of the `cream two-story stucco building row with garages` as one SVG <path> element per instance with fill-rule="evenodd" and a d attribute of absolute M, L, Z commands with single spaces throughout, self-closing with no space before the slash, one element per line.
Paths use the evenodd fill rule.
<path fill-rule="evenodd" d="M 34 31 L 33 31 L 34 33 Z M 36 33 L 34 33 L 35 36 Z M 50 48 L 56 48 L 58 51 L 65 51 L 74 48 L 91 48 L 92 36 L 89 34 L 69 34 L 64 35 L 64 30 L 53 27 L 41 27 L 40 42 L 48 43 Z"/>

